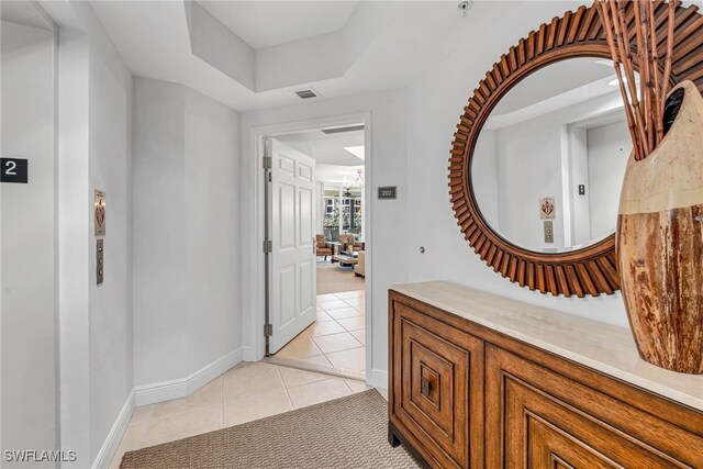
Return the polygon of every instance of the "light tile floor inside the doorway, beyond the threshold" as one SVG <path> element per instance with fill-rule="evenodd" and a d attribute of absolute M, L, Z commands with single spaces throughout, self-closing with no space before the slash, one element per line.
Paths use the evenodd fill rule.
<path fill-rule="evenodd" d="M 366 370 L 364 290 L 319 294 L 317 320 L 274 357 L 344 370 L 362 378 Z"/>

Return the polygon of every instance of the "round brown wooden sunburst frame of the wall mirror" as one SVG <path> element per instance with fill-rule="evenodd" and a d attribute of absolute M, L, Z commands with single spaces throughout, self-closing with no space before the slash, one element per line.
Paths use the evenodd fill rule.
<path fill-rule="evenodd" d="M 628 29 L 634 26 L 634 9 L 627 7 Z M 666 24 L 667 4 L 655 3 L 655 23 Z M 703 92 L 703 16 L 694 5 L 679 5 L 676 12 L 671 82 L 693 81 Z M 666 44 L 658 44 L 665 57 Z M 631 43 L 636 51 L 636 44 Z M 479 82 L 464 108 L 454 134 L 449 157 L 449 196 L 457 224 L 473 250 L 486 264 L 512 282 L 543 293 L 579 298 L 620 289 L 615 261 L 615 236 L 568 253 L 542 254 L 516 246 L 501 237 L 483 220 L 471 188 L 471 160 L 479 133 L 495 104 L 523 78 L 555 62 L 572 57 L 611 58 L 598 11 L 581 7 L 542 24 Z M 663 60 L 659 66 L 663 69 Z"/>

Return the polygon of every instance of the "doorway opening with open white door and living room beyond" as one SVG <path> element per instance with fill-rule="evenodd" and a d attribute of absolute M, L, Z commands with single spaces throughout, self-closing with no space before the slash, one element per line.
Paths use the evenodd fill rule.
<path fill-rule="evenodd" d="M 268 135 L 267 361 L 366 377 L 366 127 Z"/>

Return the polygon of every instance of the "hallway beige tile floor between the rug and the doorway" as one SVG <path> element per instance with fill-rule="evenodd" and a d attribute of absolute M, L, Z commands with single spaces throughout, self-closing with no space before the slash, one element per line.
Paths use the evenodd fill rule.
<path fill-rule="evenodd" d="M 358 347 L 357 347 L 358 348 Z M 110 468 L 147 446 L 187 438 L 370 389 L 365 382 L 243 362 L 183 399 L 137 407 Z M 388 394 L 379 389 L 386 399 Z"/>

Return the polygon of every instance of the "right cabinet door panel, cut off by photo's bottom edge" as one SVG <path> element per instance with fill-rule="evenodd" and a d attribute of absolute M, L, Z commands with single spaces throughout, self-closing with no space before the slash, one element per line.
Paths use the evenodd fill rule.
<path fill-rule="evenodd" d="M 491 346 L 486 384 L 491 468 L 695 467 L 703 450 L 695 435 Z M 647 421 L 652 432 L 643 437 L 639 427 Z M 657 437 L 660 431 L 691 446 L 663 451 L 661 445 L 671 445 Z"/>

